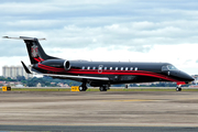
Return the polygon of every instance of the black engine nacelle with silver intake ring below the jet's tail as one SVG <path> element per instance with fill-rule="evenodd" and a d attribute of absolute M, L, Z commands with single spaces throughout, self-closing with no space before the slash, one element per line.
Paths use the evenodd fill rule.
<path fill-rule="evenodd" d="M 40 63 L 41 65 L 55 67 L 55 68 L 64 68 L 65 70 L 70 69 L 70 63 L 66 59 L 47 59 Z"/>

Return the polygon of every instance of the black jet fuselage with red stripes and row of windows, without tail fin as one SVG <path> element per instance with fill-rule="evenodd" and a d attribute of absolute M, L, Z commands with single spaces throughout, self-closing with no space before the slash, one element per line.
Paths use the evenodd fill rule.
<path fill-rule="evenodd" d="M 109 81 L 94 81 L 91 86 L 152 82 L 152 81 L 176 81 L 188 84 L 194 78 L 178 69 L 168 69 L 169 63 L 121 63 L 121 62 L 86 62 L 69 61 L 66 68 L 65 59 L 41 61 L 33 68 L 43 74 L 107 77 Z M 65 64 L 64 64 L 65 63 Z M 167 67 L 166 69 L 163 67 Z M 75 78 L 80 81 L 81 79 Z"/>

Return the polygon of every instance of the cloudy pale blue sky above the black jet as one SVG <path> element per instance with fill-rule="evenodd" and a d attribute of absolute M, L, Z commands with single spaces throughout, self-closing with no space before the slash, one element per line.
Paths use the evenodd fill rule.
<path fill-rule="evenodd" d="M 197 7 L 197 0 L 0 0 L 0 36 L 45 37 L 45 52 L 67 61 L 165 62 L 198 75 Z M 23 41 L 0 38 L 0 67 L 21 61 L 30 65 Z"/>

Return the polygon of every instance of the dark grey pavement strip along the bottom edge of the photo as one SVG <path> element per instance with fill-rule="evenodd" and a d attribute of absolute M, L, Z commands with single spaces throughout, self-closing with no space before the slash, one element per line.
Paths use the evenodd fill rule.
<path fill-rule="evenodd" d="M 0 125 L 1 131 L 66 131 L 66 132 L 197 132 L 183 127 L 68 127 L 68 125 Z"/>

